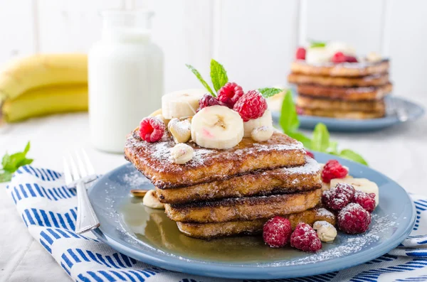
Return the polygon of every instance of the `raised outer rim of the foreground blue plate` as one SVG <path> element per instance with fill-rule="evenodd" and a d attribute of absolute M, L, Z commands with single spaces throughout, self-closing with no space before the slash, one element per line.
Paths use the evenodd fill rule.
<path fill-rule="evenodd" d="M 354 163 L 349 160 L 345 160 L 342 158 L 337 158 L 337 156 L 332 156 L 327 153 L 320 153 L 320 152 L 314 152 L 315 156 L 325 156 L 326 158 L 335 158 L 339 161 L 343 162 L 349 162 L 352 163 L 354 166 L 365 166 Z M 122 169 L 124 166 L 129 166 L 130 163 L 126 163 L 122 166 L 119 166 L 115 168 L 114 170 L 111 170 L 108 173 L 105 173 L 100 180 L 102 180 L 103 177 L 106 177 L 107 175 L 110 175 L 112 173 L 115 173 L 116 170 Z M 370 170 L 374 170 L 373 168 L 369 168 Z M 297 278 L 297 277 L 304 277 L 304 276 L 313 276 L 313 275 L 320 275 L 322 273 L 330 273 L 333 271 L 339 271 L 342 269 L 348 269 L 353 266 L 357 266 L 359 264 L 364 264 L 367 261 L 371 261 L 372 259 L 376 259 L 379 256 L 382 256 L 386 254 L 387 252 L 391 251 L 392 249 L 395 249 L 396 246 L 399 246 L 401 242 L 408 237 L 408 235 L 413 230 L 413 225 L 416 222 L 416 210 L 415 205 L 413 201 L 411 200 L 411 197 L 409 197 L 408 192 L 404 190 L 404 188 L 401 187 L 398 183 L 396 183 L 394 180 L 391 180 L 391 178 L 387 177 L 383 173 L 380 173 L 377 170 L 374 170 L 375 173 L 383 176 L 388 180 L 389 182 L 396 185 L 399 189 L 403 190 L 408 197 L 408 199 L 411 202 L 411 218 L 408 220 L 408 224 L 406 224 L 406 227 L 404 229 L 401 229 L 401 232 L 399 236 L 393 239 L 392 242 L 389 244 L 381 244 L 379 246 L 376 246 L 372 249 L 367 249 L 366 251 L 359 252 L 357 254 L 352 254 L 351 260 L 344 260 L 348 261 L 347 264 L 334 264 L 335 260 L 343 260 L 348 256 L 344 256 L 341 258 L 334 258 L 334 259 L 328 259 L 325 261 L 315 262 L 313 263 L 307 263 L 307 264 L 297 264 L 297 265 L 290 265 L 290 266 L 256 266 L 256 263 L 244 263 L 244 264 L 236 264 L 236 265 L 226 265 L 226 264 L 218 264 L 216 262 L 211 261 L 200 261 L 198 259 L 191 259 L 191 263 L 189 261 L 186 261 L 185 259 L 179 259 L 171 256 L 164 256 L 161 252 L 158 254 L 156 253 L 145 253 L 142 251 L 138 251 L 136 249 L 133 249 L 130 244 L 127 244 L 126 242 L 119 242 L 117 239 L 114 239 L 113 237 L 110 237 L 109 235 L 105 234 L 100 230 L 100 228 L 97 228 L 93 230 L 93 234 L 95 234 L 95 237 L 99 239 L 101 242 L 104 242 L 105 244 L 108 244 L 112 247 L 112 249 L 115 249 L 116 251 L 120 251 L 122 254 L 126 254 L 127 256 L 130 256 L 137 261 L 143 261 L 144 263 L 151 264 L 153 266 L 158 266 L 162 269 L 169 269 L 172 271 L 179 271 L 194 275 L 200 275 L 200 276 L 210 276 L 210 277 L 217 277 L 217 278 L 240 278 L 240 279 L 254 279 L 254 278 Z M 97 185 L 97 183 L 95 183 Z M 95 185 L 91 187 L 90 190 L 92 190 Z M 395 237 L 395 234 L 392 235 L 392 237 Z M 332 261 L 332 263 L 331 263 Z M 328 266 L 328 264 L 332 266 Z M 263 271 L 260 271 L 260 268 L 263 269 Z M 322 270 L 325 269 L 325 270 Z M 304 273 L 304 276 L 300 276 L 297 273 Z"/>

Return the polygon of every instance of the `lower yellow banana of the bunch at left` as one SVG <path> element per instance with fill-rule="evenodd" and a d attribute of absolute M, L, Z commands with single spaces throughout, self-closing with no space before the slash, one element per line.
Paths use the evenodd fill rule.
<path fill-rule="evenodd" d="M 16 122 L 33 116 L 88 110 L 88 85 L 49 85 L 5 99 L 1 116 L 6 122 Z"/>

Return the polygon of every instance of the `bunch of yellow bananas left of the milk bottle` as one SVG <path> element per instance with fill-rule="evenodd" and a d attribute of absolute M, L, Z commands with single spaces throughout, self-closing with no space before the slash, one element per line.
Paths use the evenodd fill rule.
<path fill-rule="evenodd" d="M 0 72 L 1 119 L 88 109 L 88 57 L 85 54 L 33 55 L 14 60 Z"/>

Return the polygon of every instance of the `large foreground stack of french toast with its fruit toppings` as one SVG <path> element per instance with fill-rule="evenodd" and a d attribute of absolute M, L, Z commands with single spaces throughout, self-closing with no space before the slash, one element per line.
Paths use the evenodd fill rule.
<path fill-rule="evenodd" d="M 302 143 L 273 131 L 271 113 L 258 92 L 244 94 L 241 102 L 265 104 L 253 109 L 255 119 L 246 108 L 183 93 L 185 104 L 199 107 L 194 116 L 191 111 L 169 114 L 173 107 L 168 104 L 161 114 L 143 119 L 125 145 L 127 160 L 151 180 L 157 200 L 181 232 L 201 239 L 258 234 L 278 215 L 292 227 L 322 220 L 335 224 L 334 214 L 319 207 L 320 165 Z M 197 103 L 189 101 L 193 95 Z M 190 135 L 181 139 L 187 130 Z"/>

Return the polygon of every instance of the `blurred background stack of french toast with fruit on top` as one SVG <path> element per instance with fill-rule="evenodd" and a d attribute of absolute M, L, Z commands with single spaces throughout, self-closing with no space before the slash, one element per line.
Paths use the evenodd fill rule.
<path fill-rule="evenodd" d="M 374 119 L 386 114 L 392 90 L 389 60 L 376 53 L 357 57 L 347 43 L 298 48 L 288 82 L 296 85 L 297 107 L 310 116 Z"/>

